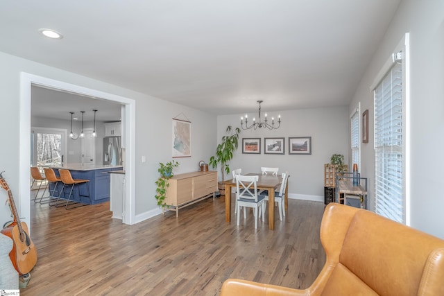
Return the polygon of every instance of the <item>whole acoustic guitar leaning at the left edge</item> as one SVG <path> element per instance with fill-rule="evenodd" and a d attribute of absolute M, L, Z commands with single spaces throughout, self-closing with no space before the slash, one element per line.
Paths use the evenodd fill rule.
<path fill-rule="evenodd" d="M 19 275 L 25 275 L 30 272 L 34 268 L 35 263 L 37 263 L 37 250 L 29 237 L 28 226 L 26 223 L 20 222 L 17 209 L 15 208 L 14 198 L 12 198 L 8 184 L 3 179 L 3 173 L 4 172 L 0 173 L 0 185 L 8 192 L 9 204 L 14 216 L 14 221 L 7 227 L 1 229 L 0 232 L 9 236 L 14 242 L 9 257 L 12 265 L 14 265 L 14 268 L 19 272 Z"/>

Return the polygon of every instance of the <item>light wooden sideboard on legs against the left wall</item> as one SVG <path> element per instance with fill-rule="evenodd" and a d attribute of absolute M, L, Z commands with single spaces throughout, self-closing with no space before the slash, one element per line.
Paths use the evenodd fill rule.
<path fill-rule="evenodd" d="M 165 204 L 169 206 L 167 209 L 176 211 L 176 217 L 178 217 L 179 209 L 210 196 L 214 198 L 215 191 L 217 191 L 216 171 L 197 171 L 173 175 L 169 179 Z"/>

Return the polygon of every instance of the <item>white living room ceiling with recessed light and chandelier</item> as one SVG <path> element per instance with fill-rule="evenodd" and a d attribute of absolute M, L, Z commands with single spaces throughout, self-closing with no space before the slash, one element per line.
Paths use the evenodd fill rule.
<path fill-rule="evenodd" d="M 348 105 L 399 3 L 2 0 L 0 51 L 214 114 Z"/>

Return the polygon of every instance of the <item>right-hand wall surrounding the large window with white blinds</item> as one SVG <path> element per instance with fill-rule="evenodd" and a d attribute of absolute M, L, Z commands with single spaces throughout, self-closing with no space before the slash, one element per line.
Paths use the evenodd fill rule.
<path fill-rule="evenodd" d="M 444 238 L 444 1 L 401 1 L 391 26 L 357 88 L 350 110 L 361 101 L 369 110 L 368 144 L 362 144 L 361 175 L 370 180 L 374 200 L 373 94 L 370 85 L 405 33 L 410 37 L 411 226 Z M 350 111 L 351 112 L 351 111 Z M 372 202 L 373 204 L 373 202 Z"/>

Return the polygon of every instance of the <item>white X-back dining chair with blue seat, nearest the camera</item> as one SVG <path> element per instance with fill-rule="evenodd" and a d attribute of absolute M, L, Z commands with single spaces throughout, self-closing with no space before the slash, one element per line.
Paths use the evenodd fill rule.
<path fill-rule="evenodd" d="M 255 213 L 255 229 L 257 229 L 257 219 L 259 211 L 264 211 L 264 195 L 257 194 L 257 180 L 259 176 L 236 175 L 236 200 L 237 200 L 237 225 L 241 216 L 241 207 L 244 208 L 244 218 L 246 218 L 246 208 L 254 209 Z M 262 215 L 264 216 L 264 215 Z M 262 218 L 262 220 L 264 220 Z"/>

